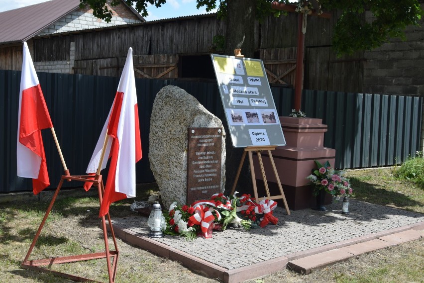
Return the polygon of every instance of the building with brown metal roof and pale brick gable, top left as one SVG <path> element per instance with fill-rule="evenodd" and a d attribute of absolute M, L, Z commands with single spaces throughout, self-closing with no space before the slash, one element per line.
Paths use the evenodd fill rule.
<path fill-rule="evenodd" d="M 96 18 L 93 15 L 93 9 L 89 7 L 80 8 L 80 0 L 50 0 L 0 12 L 0 70 L 20 70 L 22 66 L 22 42 L 27 41 L 28 47 L 32 51 L 34 36 L 60 35 L 69 31 L 145 21 L 133 7 L 126 5 L 125 1 L 113 8 L 109 5 L 108 7 L 113 13 L 112 19 L 108 23 Z M 64 51 L 59 48 L 54 53 L 62 54 Z M 44 61 L 46 63 L 40 62 L 37 65 L 37 70 L 72 72 L 73 66 L 69 61 L 73 59 L 69 56 L 69 48 L 67 51 L 67 56 L 59 56 L 64 58 L 63 60 L 54 64 L 47 63 L 52 61 L 50 58 L 50 60 Z M 57 56 L 55 55 L 55 57 Z M 60 66 L 60 68 L 57 66 Z"/>

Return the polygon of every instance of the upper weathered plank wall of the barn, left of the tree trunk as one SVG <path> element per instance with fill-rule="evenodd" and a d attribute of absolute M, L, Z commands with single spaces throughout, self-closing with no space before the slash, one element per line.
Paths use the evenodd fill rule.
<path fill-rule="evenodd" d="M 75 60 L 134 55 L 207 54 L 214 35 L 225 32 L 214 15 L 93 30 L 75 36 Z"/>

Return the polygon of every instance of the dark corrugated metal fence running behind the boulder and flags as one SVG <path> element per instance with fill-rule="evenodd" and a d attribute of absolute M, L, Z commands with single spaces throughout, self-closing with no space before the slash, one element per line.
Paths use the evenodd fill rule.
<path fill-rule="evenodd" d="M 119 78 L 38 73 L 43 94 L 72 175 L 85 174 L 111 107 Z M 20 71 L 0 70 L 0 192 L 31 190 L 30 179 L 16 176 L 17 109 Z M 136 165 L 138 183 L 153 182 L 148 161 L 150 114 L 156 94 L 175 85 L 195 96 L 224 120 L 216 82 L 136 79 L 143 158 Z M 271 87 L 277 111 L 287 116 L 294 91 Z M 420 146 L 422 97 L 304 91 L 302 109 L 328 125 L 324 146 L 336 149 L 336 168 L 389 166 L 413 155 Z M 49 130 L 43 130 L 51 188 L 63 174 Z M 102 172 L 107 175 L 107 170 Z M 81 184 L 65 182 L 66 187 Z"/>

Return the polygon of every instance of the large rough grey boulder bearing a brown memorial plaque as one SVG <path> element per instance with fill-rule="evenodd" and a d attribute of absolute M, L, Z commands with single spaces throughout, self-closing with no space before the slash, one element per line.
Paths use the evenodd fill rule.
<path fill-rule="evenodd" d="M 189 128 L 191 135 L 197 138 L 203 136 L 196 136 L 197 130 L 193 128 L 210 128 L 210 130 L 214 128 L 216 132 L 219 132 L 219 143 L 207 143 L 207 140 L 199 139 L 197 145 L 216 146 L 219 144 L 221 154 L 213 156 L 212 153 L 216 150 L 212 151 L 209 148 L 205 149 L 205 147 L 203 147 L 205 151 L 203 155 L 199 153 L 202 150 L 199 147 L 195 149 L 196 152 L 189 152 Z M 200 129 L 199 132 L 201 132 Z M 216 141 L 217 135 L 213 135 L 213 137 Z M 194 156 L 208 155 L 210 159 L 199 158 L 196 165 L 201 165 L 196 168 L 196 171 L 188 174 L 187 162 L 190 154 Z M 219 178 L 217 185 L 208 186 L 207 181 L 212 180 L 212 177 L 199 177 L 195 181 L 199 182 L 198 187 L 191 190 L 204 193 L 211 192 L 208 194 L 208 198 L 212 195 L 212 190 L 208 190 L 208 188 L 218 187 L 216 188 L 217 192 L 223 192 L 225 184 L 225 132 L 221 120 L 186 91 L 176 86 L 162 88 L 156 95 L 150 118 L 149 161 L 165 208 L 169 207 L 174 201 L 180 204 L 191 204 L 187 203 L 187 178 L 197 178 L 201 175 L 215 176 L 215 178 L 217 176 Z M 203 165 L 204 163 L 205 165 Z M 215 167 L 211 164 L 214 164 Z M 216 167 L 216 164 L 219 166 Z M 217 170 L 213 168 L 218 168 L 217 170 L 220 172 L 216 172 Z M 202 174 L 200 175 L 200 173 Z M 191 194 L 190 190 L 189 194 Z"/>

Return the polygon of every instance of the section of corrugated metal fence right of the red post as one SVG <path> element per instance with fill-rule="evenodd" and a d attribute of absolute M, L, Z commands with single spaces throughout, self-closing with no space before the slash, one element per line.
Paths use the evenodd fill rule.
<path fill-rule="evenodd" d="M 391 166 L 419 150 L 422 97 L 305 90 L 302 109 L 328 126 L 337 168 Z"/>

